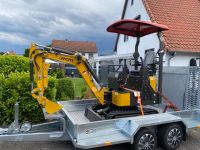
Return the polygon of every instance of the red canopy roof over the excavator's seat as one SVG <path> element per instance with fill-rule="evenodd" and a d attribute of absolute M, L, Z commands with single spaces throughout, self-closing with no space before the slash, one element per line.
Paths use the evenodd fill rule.
<path fill-rule="evenodd" d="M 107 28 L 107 31 L 133 37 L 143 37 L 148 34 L 161 32 L 168 29 L 169 28 L 167 26 L 162 24 L 125 19 L 111 24 Z"/>

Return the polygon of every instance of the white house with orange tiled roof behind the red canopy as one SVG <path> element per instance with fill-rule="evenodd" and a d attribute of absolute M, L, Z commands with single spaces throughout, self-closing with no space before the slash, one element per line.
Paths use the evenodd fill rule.
<path fill-rule="evenodd" d="M 136 19 L 167 25 L 163 32 L 164 66 L 189 66 L 200 58 L 200 0 L 125 0 L 121 19 Z M 114 52 L 117 56 L 131 56 L 136 38 L 117 35 Z M 159 49 L 156 34 L 143 37 L 140 56 L 145 50 Z"/>

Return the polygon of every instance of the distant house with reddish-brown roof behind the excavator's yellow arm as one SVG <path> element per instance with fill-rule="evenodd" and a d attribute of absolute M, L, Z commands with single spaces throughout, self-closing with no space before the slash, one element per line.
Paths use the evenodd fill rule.
<path fill-rule="evenodd" d="M 98 50 L 95 42 L 84 41 L 68 41 L 68 40 L 53 40 L 51 44 L 52 48 L 60 48 L 63 50 L 79 52 L 89 61 L 98 56 Z M 93 64 L 92 64 L 93 65 Z M 52 64 L 51 68 L 56 68 L 58 64 Z M 94 66 L 94 65 L 93 65 Z M 79 76 L 78 70 L 69 64 L 60 64 L 59 68 L 66 70 L 66 75 L 71 76 L 72 72 L 74 76 Z"/>

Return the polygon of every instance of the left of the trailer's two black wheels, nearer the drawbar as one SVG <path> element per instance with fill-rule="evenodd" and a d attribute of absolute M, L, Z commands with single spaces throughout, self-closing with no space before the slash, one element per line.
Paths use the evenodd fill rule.
<path fill-rule="evenodd" d="M 155 150 L 157 146 L 157 136 L 150 129 L 140 130 L 134 138 L 134 143 L 131 145 L 132 150 Z M 147 147 L 149 149 L 147 149 Z M 146 149 L 145 149 L 146 148 Z"/>

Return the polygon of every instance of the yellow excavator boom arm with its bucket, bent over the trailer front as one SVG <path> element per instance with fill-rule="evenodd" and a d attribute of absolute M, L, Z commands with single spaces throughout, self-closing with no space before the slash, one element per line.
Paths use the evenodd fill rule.
<path fill-rule="evenodd" d="M 98 84 L 98 78 L 86 58 L 82 57 L 79 53 L 65 52 L 61 49 L 46 49 L 39 49 L 36 44 L 32 44 L 29 57 L 31 60 L 30 66 L 34 68 L 35 72 L 35 78 L 33 77 L 33 70 L 30 71 L 30 77 L 31 79 L 35 79 L 37 84 L 37 87 L 32 89 L 32 96 L 38 100 L 39 104 L 45 107 L 47 113 L 55 113 L 62 107 L 44 97 L 45 89 L 48 87 L 48 68 L 50 66 L 45 62 L 46 59 L 75 66 L 99 103 L 104 105 L 104 92 L 107 89 Z"/>

